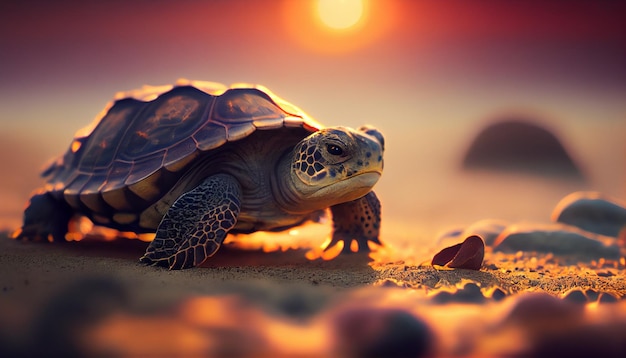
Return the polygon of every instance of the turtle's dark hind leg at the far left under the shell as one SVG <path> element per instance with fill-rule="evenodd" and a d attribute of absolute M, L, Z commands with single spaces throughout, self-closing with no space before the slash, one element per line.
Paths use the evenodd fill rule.
<path fill-rule="evenodd" d="M 22 227 L 12 237 L 18 240 L 64 242 L 67 225 L 74 215 L 72 208 L 49 192 L 36 193 L 30 198 Z"/>

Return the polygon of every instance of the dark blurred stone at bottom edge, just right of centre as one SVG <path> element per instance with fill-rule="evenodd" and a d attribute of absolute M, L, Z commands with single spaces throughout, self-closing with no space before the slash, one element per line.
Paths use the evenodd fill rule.
<path fill-rule="evenodd" d="M 345 309 L 333 327 L 335 353 L 342 357 L 423 357 L 434 346 L 428 325 L 401 309 Z"/>

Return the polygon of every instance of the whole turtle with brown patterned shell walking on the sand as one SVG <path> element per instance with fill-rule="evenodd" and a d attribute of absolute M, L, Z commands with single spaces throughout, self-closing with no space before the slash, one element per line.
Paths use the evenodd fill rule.
<path fill-rule="evenodd" d="M 13 237 L 65 241 L 79 214 L 155 233 L 139 261 L 185 269 L 229 233 L 286 230 L 330 212 L 326 249 L 356 242 L 369 252 L 382 245 L 372 187 L 383 152 L 375 127 L 324 127 L 261 85 L 144 86 L 116 94 L 43 170 Z"/>

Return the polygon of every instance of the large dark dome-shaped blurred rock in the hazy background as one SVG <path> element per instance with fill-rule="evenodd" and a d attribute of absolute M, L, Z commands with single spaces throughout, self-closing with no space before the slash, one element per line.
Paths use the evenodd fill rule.
<path fill-rule="evenodd" d="M 560 140 L 527 119 L 503 119 L 487 126 L 470 145 L 462 165 L 465 169 L 521 171 L 584 181 Z"/>

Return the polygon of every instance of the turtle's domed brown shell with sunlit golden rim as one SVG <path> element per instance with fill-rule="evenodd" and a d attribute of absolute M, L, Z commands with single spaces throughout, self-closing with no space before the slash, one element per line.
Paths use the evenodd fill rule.
<path fill-rule="evenodd" d="M 136 220 L 131 213 L 158 200 L 203 152 L 283 127 L 322 128 L 258 85 L 179 80 L 121 92 L 43 172 L 45 189 L 75 209 L 117 212 L 116 222 L 130 223 Z M 139 197 L 143 208 L 129 196 Z"/>

